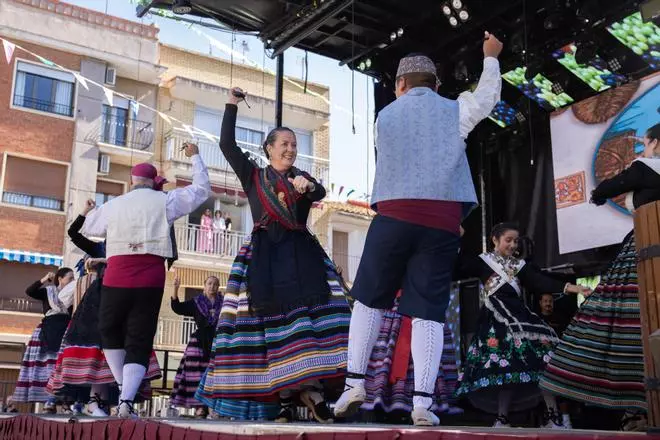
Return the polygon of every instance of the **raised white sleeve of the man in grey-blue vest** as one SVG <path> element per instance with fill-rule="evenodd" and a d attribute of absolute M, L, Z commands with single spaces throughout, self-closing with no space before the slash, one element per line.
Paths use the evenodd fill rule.
<path fill-rule="evenodd" d="M 474 92 L 463 92 L 458 97 L 459 131 L 462 139 L 490 112 L 500 100 L 502 76 L 497 58 L 484 58 L 484 70 Z"/>

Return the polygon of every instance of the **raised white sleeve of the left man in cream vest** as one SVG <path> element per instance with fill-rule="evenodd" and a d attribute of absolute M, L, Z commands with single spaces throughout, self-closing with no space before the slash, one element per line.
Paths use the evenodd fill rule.
<path fill-rule="evenodd" d="M 199 154 L 192 157 L 193 182 L 167 193 L 166 213 L 170 225 L 199 208 L 211 194 L 209 172 Z"/>

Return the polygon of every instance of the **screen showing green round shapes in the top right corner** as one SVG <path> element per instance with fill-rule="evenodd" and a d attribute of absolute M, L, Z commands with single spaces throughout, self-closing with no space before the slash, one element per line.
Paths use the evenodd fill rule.
<path fill-rule="evenodd" d="M 636 12 L 607 27 L 610 34 L 641 56 L 653 70 L 660 68 L 660 27 L 652 21 L 642 22 L 642 14 Z"/>

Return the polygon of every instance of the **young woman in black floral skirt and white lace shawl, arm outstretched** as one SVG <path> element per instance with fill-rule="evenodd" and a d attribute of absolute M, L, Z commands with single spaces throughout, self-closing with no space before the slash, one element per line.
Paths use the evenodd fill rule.
<path fill-rule="evenodd" d="M 473 406 L 496 414 L 496 427 L 508 426 L 508 414 L 534 408 L 541 397 L 538 382 L 559 340 L 554 330 L 522 300 L 522 287 L 534 293 L 585 293 L 541 273 L 517 258 L 518 228 L 502 223 L 493 228 L 494 248 L 481 254 L 465 270 L 483 284 L 484 305 L 477 332 L 466 353 L 463 377 L 456 392 Z M 546 427 L 562 428 L 554 397 L 543 395 Z"/>

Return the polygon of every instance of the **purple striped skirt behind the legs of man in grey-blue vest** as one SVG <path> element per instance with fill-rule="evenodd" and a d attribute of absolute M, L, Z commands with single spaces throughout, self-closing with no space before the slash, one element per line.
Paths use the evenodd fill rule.
<path fill-rule="evenodd" d="M 415 380 L 412 355 L 408 362 L 405 380 L 399 380 L 394 384 L 390 383 L 390 373 L 402 321 L 402 316 L 397 313 L 396 306 L 385 313 L 376 346 L 369 359 L 365 380 L 367 400 L 362 404 L 363 410 L 381 409 L 389 413 L 397 410 L 411 412 L 413 409 L 412 399 L 415 391 Z M 445 325 L 442 362 L 438 370 L 434 392 L 436 401 L 432 411 L 437 412 L 440 407 L 454 403 L 453 394 L 457 379 L 454 336 L 449 327 Z"/>

